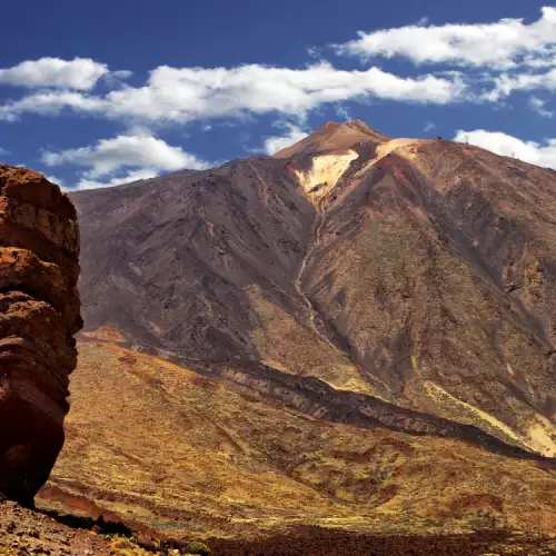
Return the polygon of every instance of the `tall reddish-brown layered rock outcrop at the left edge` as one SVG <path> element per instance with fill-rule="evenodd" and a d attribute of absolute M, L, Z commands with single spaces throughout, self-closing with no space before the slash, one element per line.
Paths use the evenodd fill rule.
<path fill-rule="evenodd" d="M 0 492 L 31 505 L 63 444 L 82 325 L 73 205 L 42 175 L 0 165 Z"/>

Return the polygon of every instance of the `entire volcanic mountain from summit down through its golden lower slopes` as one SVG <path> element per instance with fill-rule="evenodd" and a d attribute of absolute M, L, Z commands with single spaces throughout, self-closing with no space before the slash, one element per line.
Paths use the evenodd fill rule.
<path fill-rule="evenodd" d="M 554 532 L 553 170 L 330 122 L 71 199 L 85 330 L 41 505 L 296 554 Z"/>

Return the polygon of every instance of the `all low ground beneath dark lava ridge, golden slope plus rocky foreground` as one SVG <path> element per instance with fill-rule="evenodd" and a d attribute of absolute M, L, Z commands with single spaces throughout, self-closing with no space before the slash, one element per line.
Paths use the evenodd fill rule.
<path fill-rule="evenodd" d="M 556 555 L 548 461 L 319 421 L 113 344 L 79 351 L 66 446 L 40 512 L 0 508 L 0 555 L 143 554 L 130 537 L 226 556 Z"/>

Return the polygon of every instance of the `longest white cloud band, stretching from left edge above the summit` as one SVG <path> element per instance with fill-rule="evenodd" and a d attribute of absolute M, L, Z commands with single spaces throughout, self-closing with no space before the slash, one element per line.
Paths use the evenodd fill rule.
<path fill-rule="evenodd" d="M 48 91 L 0 106 L 0 120 L 26 112 L 58 115 L 64 109 L 108 118 L 187 122 L 268 112 L 301 116 L 324 105 L 369 98 L 445 105 L 464 96 L 457 77 L 401 78 L 378 68 L 345 71 L 320 62 L 305 69 L 169 68 L 151 71 L 146 86 L 125 87 L 105 97 Z"/>

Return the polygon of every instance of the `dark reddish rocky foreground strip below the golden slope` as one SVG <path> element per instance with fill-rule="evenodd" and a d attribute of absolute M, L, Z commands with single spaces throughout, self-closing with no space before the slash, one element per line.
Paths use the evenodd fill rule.
<path fill-rule="evenodd" d="M 190 554 L 221 556 L 550 556 L 556 542 L 543 536 L 483 530 L 470 535 L 375 536 L 318 527 L 250 542 L 211 543 L 152 539 L 122 524 L 39 513 L 0 499 L 0 555 Z"/>

